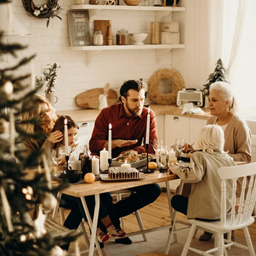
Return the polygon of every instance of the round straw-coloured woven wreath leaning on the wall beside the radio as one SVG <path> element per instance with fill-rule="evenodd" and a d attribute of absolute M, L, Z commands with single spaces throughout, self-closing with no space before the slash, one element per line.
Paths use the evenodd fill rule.
<path fill-rule="evenodd" d="M 173 85 L 173 92 L 165 94 L 159 92 L 159 82 L 163 79 L 170 79 Z M 175 104 L 177 102 L 177 93 L 182 88 L 185 88 L 185 83 L 180 73 L 168 68 L 158 70 L 148 79 L 148 96 L 157 104 Z"/>

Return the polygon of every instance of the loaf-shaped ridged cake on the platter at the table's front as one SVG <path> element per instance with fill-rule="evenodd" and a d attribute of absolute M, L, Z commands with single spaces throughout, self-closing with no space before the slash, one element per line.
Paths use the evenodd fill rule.
<path fill-rule="evenodd" d="M 109 179 L 138 179 L 139 171 L 133 167 L 109 167 L 108 168 Z"/>

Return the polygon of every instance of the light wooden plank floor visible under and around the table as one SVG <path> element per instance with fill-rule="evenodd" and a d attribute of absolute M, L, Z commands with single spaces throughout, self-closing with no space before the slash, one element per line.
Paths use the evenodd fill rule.
<path fill-rule="evenodd" d="M 65 216 L 67 216 L 68 210 L 65 210 Z M 140 209 L 140 215 L 143 220 L 143 225 L 145 228 L 154 228 L 161 227 L 163 225 L 170 225 L 170 213 L 168 209 L 168 202 L 166 192 L 162 192 L 159 198 L 157 198 L 156 202 L 153 204 Z M 186 221 L 184 214 L 179 214 L 177 216 L 178 220 Z M 60 221 L 59 216 L 57 217 L 57 221 Z M 125 232 L 134 232 L 138 231 L 138 223 L 136 221 L 136 217 L 134 214 L 131 214 L 124 218 L 125 221 Z M 87 225 L 86 225 L 87 226 Z M 87 227 L 86 227 L 87 229 Z M 250 235 L 252 241 L 256 241 L 256 223 L 253 223 L 249 227 Z M 235 236 L 243 236 L 243 232 L 240 230 L 235 231 Z M 83 239 L 79 239 L 79 246 L 84 247 Z M 74 250 L 74 244 L 70 245 L 70 250 Z"/>

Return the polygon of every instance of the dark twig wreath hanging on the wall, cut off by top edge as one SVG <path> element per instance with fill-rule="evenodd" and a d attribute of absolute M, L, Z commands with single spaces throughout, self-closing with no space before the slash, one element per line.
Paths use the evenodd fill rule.
<path fill-rule="evenodd" d="M 29 16 L 34 16 L 38 19 L 48 19 L 47 27 L 49 26 L 50 19 L 57 17 L 62 20 L 58 15 L 63 10 L 58 4 L 58 0 L 49 0 L 47 4 L 36 6 L 33 0 L 22 0 L 23 6 Z"/>

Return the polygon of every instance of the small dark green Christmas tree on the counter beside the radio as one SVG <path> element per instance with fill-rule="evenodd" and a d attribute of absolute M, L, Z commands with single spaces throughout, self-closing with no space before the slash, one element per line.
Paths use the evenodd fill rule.
<path fill-rule="evenodd" d="M 210 88 L 211 84 L 218 82 L 218 81 L 228 83 L 228 81 L 226 80 L 226 77 L 227 77 L 227 70 L 225 67 L 223 67 L 223 63 L 222 63 L 221 59 L 219 59 L 216 63 L 214 72 L 212 74 L 210 74 L 209 78 L 207 79 L 207 81 L 209 81 L 209 83 L 204 84 L 204 86 L 205 86 L 205 88 L 203 90 L 204 95 L 209 96 L 209 88 Z"/>

